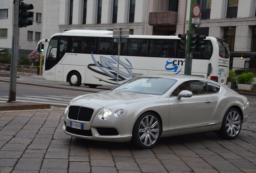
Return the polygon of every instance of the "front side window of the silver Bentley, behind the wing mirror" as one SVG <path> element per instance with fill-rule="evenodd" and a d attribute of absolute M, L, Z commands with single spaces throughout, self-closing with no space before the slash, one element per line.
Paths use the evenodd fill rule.
<path fill-rule="evenodd" d="M 207 82 L 202 80 L 188 80 L 183 82 L 173 91 L 171 97 L 178 96 L 183 90 L 191 91 L 193 95 L 207 94 Z"/>

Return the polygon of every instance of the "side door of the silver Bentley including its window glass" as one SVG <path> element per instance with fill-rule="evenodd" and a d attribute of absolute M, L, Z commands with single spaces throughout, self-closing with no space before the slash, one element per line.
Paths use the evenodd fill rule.
<path fill-rule="evenodd" d="M 182 90 L 193 93 L 190 98 L 177 99 Z M 213 107 L 207 94 L 207 82 L 188 80 L 177 87 L 169 97 L 168 132 L 187 131 L 204 127 Z"/>

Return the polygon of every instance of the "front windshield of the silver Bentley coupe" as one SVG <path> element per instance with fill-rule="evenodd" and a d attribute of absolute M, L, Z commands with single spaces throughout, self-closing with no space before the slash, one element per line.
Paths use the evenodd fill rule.
<path fill-rule="evenodd" d="M 128 80 L 112 91 L 124 91 L 149 95 L 163 95 L 177 80 L 170 78 L 138 77 Z"/>

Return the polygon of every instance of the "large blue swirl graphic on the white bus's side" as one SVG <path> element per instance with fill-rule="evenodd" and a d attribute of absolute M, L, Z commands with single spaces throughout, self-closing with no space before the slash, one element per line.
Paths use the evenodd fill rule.
<path fill-rule="evenodd" d="M 124 62 L 122 62 L 121 60 L 119 60 L 119 64 L 121 66 L 123 66 L 127 72 L 124 72 L 122 70 L 118 70 L 117 66 L 118 66 L 118 58 L 115 56 L 115 55 L 112 55 L 111 58 L 113 59 L 110 59 L 110 58 L 106 58 L 104 56 L 100 56 L 100 63 L 97 62 L 93 56 L 93 52 L 91 53 L 91 57 L 93 58 L 93 61 L 95 63 L 95 65 L 97 67 L 99 67 L 103 72 L 105 72 L 106 74 L 108 74 L 109 76 L 113 77 L 113 78 L 117 78 L 115 75 L 113 75 L 111 72 L 109 72 L 109 68 L 111 70 L 114 70 L 115 72 L 118 72 L 118 74 L 122 75 L 122 76 L 125 76 L 125 77 L 130 77 L 132 76 L 132 64 L 130 63 L 130 61 L 126 58 L 125 60 L 127 60 L 127 62 L 129 64 L 126 64 Z"/>

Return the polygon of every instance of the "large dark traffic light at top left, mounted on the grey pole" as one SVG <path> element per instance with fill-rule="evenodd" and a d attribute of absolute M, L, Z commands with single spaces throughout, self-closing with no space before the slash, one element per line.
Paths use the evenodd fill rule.
<path fill-rule="evenodd" d="M 33 17 L 33 13 L 27 11 L 32 9 L 34 9 L 32 4 L 25 4 L 24 2 L 19 3 L 19 28 L 33 24 L 32 20 L 27 20 L 27 18 Z"/>

